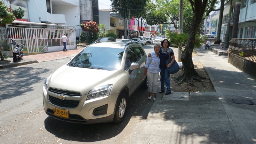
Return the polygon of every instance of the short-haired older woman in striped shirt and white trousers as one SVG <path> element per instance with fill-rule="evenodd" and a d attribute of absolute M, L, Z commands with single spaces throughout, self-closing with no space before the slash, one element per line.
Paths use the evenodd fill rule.
<path fill-rule="evenodd" d="M 160 44 L 154 45 L 154 52 L 151 52 L 151 57 L 148 57 L 144 75 L 148 77 L 148 92 L 149 96 L 148 99 L 150 100 L 152 97 L 152 92 L 154 94 L 154 101 L 156 100 L 156 90 L 157 90 L 157 80 L 159 76 L 160 70 L 160 58 L 159 58 L 159 51 L 160 51 Z"/>

